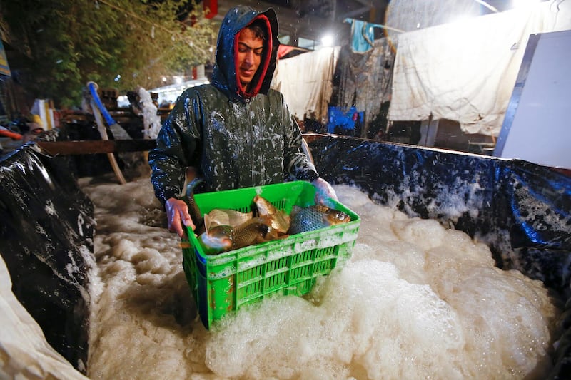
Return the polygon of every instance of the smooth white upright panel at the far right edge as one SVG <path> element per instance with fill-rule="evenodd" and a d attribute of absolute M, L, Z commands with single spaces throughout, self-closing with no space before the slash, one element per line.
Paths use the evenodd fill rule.
<path fill-rule="evenodd" d="M 571 31 L 531 37 L 494 154 L 571 168 Z"/>

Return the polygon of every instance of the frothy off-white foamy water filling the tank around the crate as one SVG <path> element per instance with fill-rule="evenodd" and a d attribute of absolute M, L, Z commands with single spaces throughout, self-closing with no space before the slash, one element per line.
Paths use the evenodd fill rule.
<path fill-rule="evenodd" d="M 96 205 L 91 379 L 522 379 L 550 368 L 557 309 L 490 250 L 346 185 L 353 257 L 308 297 L 270 297 L 206 331 L 147 178 Z"/>

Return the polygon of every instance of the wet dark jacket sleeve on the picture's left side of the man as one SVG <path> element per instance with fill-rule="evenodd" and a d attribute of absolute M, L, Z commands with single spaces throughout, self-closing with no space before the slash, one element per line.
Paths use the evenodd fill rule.
<path fill-rule="evenodd" d="M 200 130 L 196 102 L 190 95 L 181 95 L 158 133 L 156 148 L 148 153 L 151 183 L 163 206 L 169 198 L 181 195 L 186 168 L 196 165 Z"/>

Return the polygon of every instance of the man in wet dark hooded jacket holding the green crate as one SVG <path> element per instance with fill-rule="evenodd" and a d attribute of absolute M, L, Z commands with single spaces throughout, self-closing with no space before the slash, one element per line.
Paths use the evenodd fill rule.
<path fill-rule="evenodd" d="M 299 127 L 282 94 L 270 88 L 278 45 L 273 9 L 228 11 L 218 32 L 212 83 L 186 89 L 163 124 L 148 161 L 168 229 L 179 236 L 183 225 L 194 230 L 186 202 L 178 199 L 188 167 L 204 179 L 203 191 L 295 179 L 311 181 L 318 202 L 337 199 L 302 152 Z"/>

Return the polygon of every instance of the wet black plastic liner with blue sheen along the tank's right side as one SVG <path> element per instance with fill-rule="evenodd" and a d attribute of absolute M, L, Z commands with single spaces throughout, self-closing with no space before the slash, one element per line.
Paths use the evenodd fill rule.
<path fill-rule="evenodd" d="M 553 378 L 571 373 L 571 178 L 522 160 L 356 138 L 308 138 L 331 183 L 439 220 L 490 246 L 498 267 L 541 279 L 567 300 Z M 565 375 L 564 375 L 565 374 Z"/>

